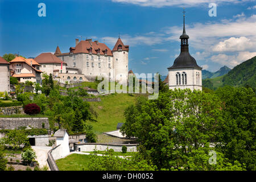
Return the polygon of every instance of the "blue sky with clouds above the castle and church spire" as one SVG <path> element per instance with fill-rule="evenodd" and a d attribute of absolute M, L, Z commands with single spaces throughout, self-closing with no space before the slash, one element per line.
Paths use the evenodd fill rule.
<path fill-rule="evenodd" d="M 38 4 L 46 4 L 46 17 Z M 216 3 L 217 16 L 208 15 Z M 75 39 L 113 48 L 120 32 L 130 46 L 129 69 L 167 75 L 180 52 L 185 7 L 189 52 L 204 69 L 233 68 L 256 55 L 256 3 L 238 0 L 0 0 L 0 56 L 68 52 Z"/>

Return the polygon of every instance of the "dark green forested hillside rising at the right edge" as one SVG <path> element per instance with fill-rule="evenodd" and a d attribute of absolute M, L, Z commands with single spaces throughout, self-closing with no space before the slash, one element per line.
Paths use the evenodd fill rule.
<path fill-rule="evenodd" d="M 234 67 L 223 77 L 223 85 L 256 87 L 256 56 Z"/>

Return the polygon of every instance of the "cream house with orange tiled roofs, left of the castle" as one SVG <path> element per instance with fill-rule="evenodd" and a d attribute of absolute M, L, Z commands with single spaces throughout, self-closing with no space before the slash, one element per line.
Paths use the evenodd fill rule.
<path fill-rule="evenodd" d="M 40 64 L 34 59 L 25 59 L 21 56 L 16 56 L 15 59 L 9 62 L 12 70 L 12 77 L 18 78 L 19 82 L 32 81 L 42 83 L 41 73 L 39 70 Z"/>

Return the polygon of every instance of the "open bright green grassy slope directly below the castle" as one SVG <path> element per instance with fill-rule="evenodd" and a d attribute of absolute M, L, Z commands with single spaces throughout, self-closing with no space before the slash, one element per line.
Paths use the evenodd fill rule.
<path fill-rule="evenodd" d="M 136 96 L 129 94 L 111 94 L 100 96 L 101 102 L 90 102 L 98 113 L 98 122 L 89 122 L 98 133 L 116 130 L 117 123 L 125 122 L 123 115 L 127 106 L 134 104 Z"/>

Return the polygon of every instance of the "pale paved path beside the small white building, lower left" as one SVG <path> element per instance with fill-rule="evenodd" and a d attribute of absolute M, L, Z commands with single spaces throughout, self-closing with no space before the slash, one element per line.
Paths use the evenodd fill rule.
<path fill-rule="evenodd" d="M 33 150 L 36 152 L 36 160 L 39 163 L 40 167 L 47 166 L 49 168 L 47 158 L 48 151 L 52 149 L 52 147 L 41 147 L 41 146 L 31 146 Z M 50 170 L 50 169 L 48 169 Z"/>

